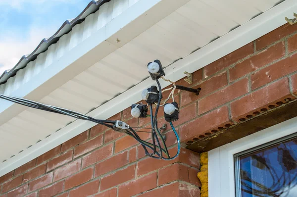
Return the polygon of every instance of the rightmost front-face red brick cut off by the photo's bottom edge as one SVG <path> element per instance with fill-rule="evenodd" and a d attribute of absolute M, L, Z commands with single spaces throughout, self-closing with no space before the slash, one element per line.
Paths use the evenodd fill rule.
<path fill-rule="evenodd" d="M 179 197 L 179 183 L 173 183 L 156 190 L 148 191 L 138 197 Z"/>

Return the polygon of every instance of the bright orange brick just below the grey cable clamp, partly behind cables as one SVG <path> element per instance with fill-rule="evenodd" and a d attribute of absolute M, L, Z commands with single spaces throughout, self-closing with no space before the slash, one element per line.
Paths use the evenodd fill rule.
<path fill-rule="evenodd" d="M 142 130 L 142 129 L 138 129 L 138 130 Z M 148 131 L 148 130 L 145 130 L 145 131 Z M 138 135 L 143 140 L 147 140 L 150 137 L 150 133 L 138 133 Z M 130 148 L 137 144 L 138 144 L 137 140 L 135 140 L 131 136 L 125 136 L 125 137 L 115 141 L 114 152 L 117 153 L 119 151 Z"/>

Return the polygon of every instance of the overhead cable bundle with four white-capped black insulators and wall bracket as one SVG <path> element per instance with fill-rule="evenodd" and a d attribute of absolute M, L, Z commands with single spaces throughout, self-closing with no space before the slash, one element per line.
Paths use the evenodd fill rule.
<path fill-rule="evenodd" d="M 191 89 L 191 88 L 187 88 L 187 87 L 183 87 L 183 86 L 178 86 L 178 85 L 175 85 L 174 82 L 165 79 L 163 77 L 163 76 L 165 76 L 165 73 L 164 73 L 163 67 L 161 65 L 161 62 L 159 60 L 155 60 L 154 62 L 148 63 L 148 72 L 149 72 L 152 80 L 155 80 L 157 83 L 157 86 L 158 86 L 158 87 L 151 86 L 150 88 L 144 90 L 144 92 L 142 94 L 143 99 L 146 100 L 149 105 L 150 115 L 147 115 L 148 105 L 145 105 L 142 103 L 141 104 L 133 104 L 131 114 L 135 118 L 138 118 L 138 117 L 146 118 L 146 117 L 150 116 L 151 132 L 147 132 L 147 133 L 151 133 L 152 143 L 142 140 L 139 137 L 139 135 L 136 133 L 136 132 L 145 132 L 145 131 L 135 131 L 133 129 L 133 127 L 130 127 L 129 125 L 127 125 L 126 123 L 124 123 L 120 120 L 95 119 L 93 117 L 90 117 L 90 116 L 87 116 L 85 114 L 78 113 L 75 111 L 71 111 L 69 109 L 64 109 L 61 107 L 51 106 L 51 105 L 47 105 L 47 104 L 42 104 L 42 103 L 39 103 L 36 101 L 12 97 L 12 96 L 5 96 L 5 95 L 0 94 L 0 98 L 9 100 L 11 102 L 15 102 L 15 103 L 27 106 L 27 107 L 32 107 L 35 109 L 49 111 L 52 113 L 63 114 L 63 115 L 71 116 L 73 118 L 92 121 L 97 124 L 104 125 L 108 128 L 113 129 L 114 131 L 126 133 L 127 135 L 133 137 L 135 140 L 137 140 L 142 145 L 142 147 L 145 150 L 146 155 L 148 155 L 149 157 L 157 158 L 157 159 L 164 159 L 164 160 L 172 160 L 172 159 L 176 158 L 180 152 L 180 139 L 179 139 L 179 136 L 178 136 L 173 124 L 172 124 L 172 121 L 178 120 L 178 116 L 179 116 L 178 104 L 177 104 L 177 102 L 174 101 L 174 91 L 176 89 L 180 89 L 180 90 L 193 92 L 193 93 L 196 93 L 196 95 L 198 95 L 200 92 L 200 88 L 198 88 L 196 90 L 196 89 Z M 158 81 L 158 79 L 160 79 L 160 78 L 172 83 L 172 87 L 162 91 L 161 85 Z M 170 90 L 171 90 L 171 93 L 169 94 L 168 98 L 165 99 L 163 104 L 161 104 L 162 93 L 165 91 L 170 91 Z M 166 103 L 170 99 L 170 97 L 172 97 L 173 102 Z M 152 104 L 156 105 L 154 115 L 153 115 Z M 158 114 L 158 110 L 159 110 L 160 106 L 164 106 L 164 118 L 167 122 L 170 123 L 170 126 L 176 136 L 176 139 L 177 139 L 177 148 L 178 149 L 177 149 L 177 153 L 173 157 L 171 157 L 169 155 L 168 148 L 165 143 L 165 139 L 163 138 L 162 134 L 160 133 L 160 131 L 158 129 L 157 114 Z M 162 141 L 162 145 L 159 141 L 159 138 L 160 138 L 160 141 Z M 152 150 L 152 153 L 148 152 L 148 148 Z"/>

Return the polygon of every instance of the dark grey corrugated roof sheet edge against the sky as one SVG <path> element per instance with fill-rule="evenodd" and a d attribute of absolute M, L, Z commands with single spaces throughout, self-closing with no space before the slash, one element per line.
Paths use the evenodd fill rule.
<path fill-rule="evenodd" d="M 74 19 L 66 20 L 61 27 L 49 38 L 44 38 L 40 44 L 30 54 L 23 55 L 17 64 L 9 71 L 4 71 L 0 76 L 0 84 L 5 83 L 10 77 L 13 77 L 19 69 L 36 59 L 37 55 L 49 49 L 49 46 L 56 43 L 61 36 L 67 34 L 71 29 L 85 20 L 87 16 L 99 10 L 99 7 L 110 0 L 92 0 L 86 8 Z"/>

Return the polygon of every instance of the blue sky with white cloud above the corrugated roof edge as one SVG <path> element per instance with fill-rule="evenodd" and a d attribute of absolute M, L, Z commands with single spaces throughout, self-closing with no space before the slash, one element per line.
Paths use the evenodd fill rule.
<path fill-rule="evenodd" d="M 0 74 L 91 0 L 0 0 Z"/>

